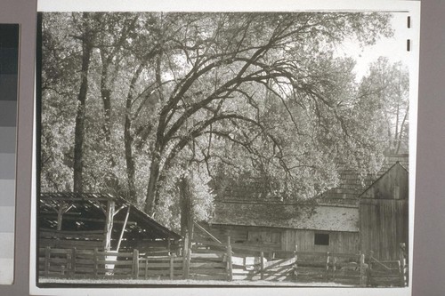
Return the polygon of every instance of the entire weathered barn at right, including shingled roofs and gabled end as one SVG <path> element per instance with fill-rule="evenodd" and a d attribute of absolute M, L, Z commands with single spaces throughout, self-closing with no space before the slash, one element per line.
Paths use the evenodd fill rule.
<path fill-rule="evenodd" d="M 310 204 L 280 201 L 259 183 L 231 184 L 214 202 L 209 231 L 218 239 L 277 250 L 374 252 L 398 260 L 408 243 L 408 155 L 385 156 L 364 180 L 344 168 L 340 182 Z"/>

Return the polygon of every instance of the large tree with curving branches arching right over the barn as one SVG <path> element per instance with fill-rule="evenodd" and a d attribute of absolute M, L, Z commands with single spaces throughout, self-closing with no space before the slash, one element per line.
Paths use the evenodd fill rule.
<path fill-rule="evenodd" d="M 216 124 L 223 123 L 241 134 L 259 131 L 263 143 L 275 153 L 272 158 L 276 162 L 269 164 L 276 166 L 278 162 L 279 169 L 291 176 L 279 139 L 268 132 L 258 112 L 256 117 L 247 115 L 242 112 L 243 106 L 246 111 L 257 108 L 263 97 L 256 90 L 263 89 L 285 107 L 291 99 L 302 108 L 311 106 L 318 118 L 309 121 L 318 120 L 318 128 L 328 119 L 341 124 L 335 105 L 338 98 L 330 93 L 336 91 L 330 80 L 335 78 L 334 72 L 323 74 L 323 63 L 329 63 L 324 57 L 331 58 L 327 44 L 339 43 L 346 36 L 372 43 L 377 33 L 390 34 L 385 28 L 387 21 L 383 14 L 360 13 L 199 15 L 199 20 L 186 27 L 188 36 L 194 38 L 182 43 L 178 40 L 182 46 L 180 52 L 174 52 L 176 59 L 184 63 L 175 75 L 181 78 L 175 79 L 159 113 L 145 211 L 154 211 L 162 172 L 169 169 L 182 149 L 211 128 L 210 133 L 244 146 L 249 156 L 256 153 L 256 161 L 264 165 L 263 148 L 254 150 L 230 135 L 214 131 Z M 290 109 L 287 112 L 292 116 Z M 333 114 L 328 118 L 329 113 Z M 294 124 L 298 129 L 298 123 Z M 333 130 L 325 125 L 328 129 Z M 304 167 L 298 174 L 307 176 L 312 171 Z"/>

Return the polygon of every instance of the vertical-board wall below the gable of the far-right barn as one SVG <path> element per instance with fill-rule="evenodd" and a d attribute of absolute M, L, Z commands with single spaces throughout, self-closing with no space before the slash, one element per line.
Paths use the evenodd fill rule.
<path fill-rule="evenodd" d="M 399 260 L 401 243 L 408 243 L 408 200 L 360 201 L 360 245 L 379 260 Z"/>

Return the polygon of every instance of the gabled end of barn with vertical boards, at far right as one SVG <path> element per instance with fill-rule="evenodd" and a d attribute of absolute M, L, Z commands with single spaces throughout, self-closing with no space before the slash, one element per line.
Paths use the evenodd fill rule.
<path fill-rule="evenodd" d="M 409 238 L 409 173 L 392 167 L 360 195 L 360 247 L 379 260 L 398 260 Z"/>

